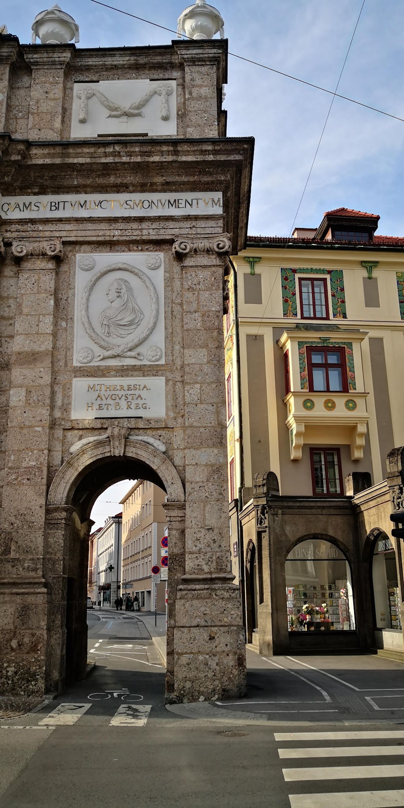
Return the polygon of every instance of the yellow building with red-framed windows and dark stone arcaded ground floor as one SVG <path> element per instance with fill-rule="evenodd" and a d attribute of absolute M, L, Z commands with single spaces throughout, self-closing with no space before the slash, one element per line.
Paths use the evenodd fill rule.
<path fill-rule="evenodd" d="M 229 277 L 230 549 L 266 653 L 404 651 L 404 238 L 378 221 L 248 238 Z"/>

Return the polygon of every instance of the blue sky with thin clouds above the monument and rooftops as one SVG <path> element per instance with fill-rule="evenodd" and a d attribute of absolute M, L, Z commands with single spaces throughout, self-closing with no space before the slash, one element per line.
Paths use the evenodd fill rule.
<path fill-rule="evenodd" d="M 215 0 L 229 50 L 333 90 L 361 0 Z M 31 40 L 43 0 L 3 0 L 0 22 Z M 49 3 L 51 5 L 52 2 Z M 165 44 L 168 32 L 90 0 L 59 0 L 80 26 L 79 47 Z M 179 0 L 114 0 L 124 11 L 176 28 Z M 404 117 L 404 3 L 366 0 L 339 92 Z M 287 235 L 330 96 L 229 57 L 228 135 L 255 137 L 250 234 Z M 379 233 L 403 235 L 404 124 L 335 99 L 297 225 L 341 205 L 379 213 Z"/>

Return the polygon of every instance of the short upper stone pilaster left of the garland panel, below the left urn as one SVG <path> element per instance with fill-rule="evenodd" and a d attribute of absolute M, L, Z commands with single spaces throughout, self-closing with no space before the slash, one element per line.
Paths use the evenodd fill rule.
<path fill-rule="evenodd" d="M 53 48 L 33 45 L 23 51 L 25 61 L 32 68 L 28 138 L 31 141 L 60 140 L 65 67 L 69 64 L 74 46 Z"/>

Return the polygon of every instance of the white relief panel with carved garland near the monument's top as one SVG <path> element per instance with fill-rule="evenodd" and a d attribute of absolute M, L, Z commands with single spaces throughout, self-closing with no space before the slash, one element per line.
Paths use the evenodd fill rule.
<path fill-rule="evenodd" d="M 132 79 L 74 84 L 71 137 L 176 135 L 176 84 Z"/>

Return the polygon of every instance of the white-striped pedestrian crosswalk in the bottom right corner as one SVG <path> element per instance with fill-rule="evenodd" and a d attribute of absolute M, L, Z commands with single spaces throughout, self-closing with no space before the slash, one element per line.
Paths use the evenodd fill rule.
<path fill-rule="evenodd" d="M 278 747 L 280 760 L 295 764 L 282 769 L 285 783 L 305 789 L 304 793 L 288 794 L 291 808 L 404 806 L 404 790 L 392 788 L 394 783 L 403 785 L 397 778 L 404 778 L 404 730 L 276 732 L 274 737 L 282 743 Z M 393 757 L 397 762 L 389 763 Z M 343 764 L 341 759 L 346 759 Z M 344 791 L 344 781 L 360 781 L 358 790 Z M 339 790 L 335 790 L 336 782 L 340 783 Z M 316 786 L 318 789 L 320 783 L 324 790 L 318 793 Z M 383 789 L 384 784 L 389 788 Z M 372 785 L 378 788 L 372 789 Z M 327 791 L 327 787 L 333 790 Z M 348 787 L 355 785 L 350 783 Z"/>

